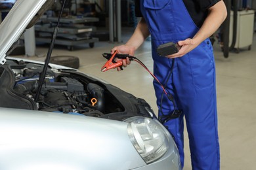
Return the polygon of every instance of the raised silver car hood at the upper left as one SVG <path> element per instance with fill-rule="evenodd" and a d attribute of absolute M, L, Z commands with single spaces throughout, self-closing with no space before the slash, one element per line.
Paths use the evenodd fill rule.
<path fill-rule="evenodd" d="M 6 54 L 12 44 L 18 41 L 27 27 L 52 5 L 54 0 L 18 0 L 0 25 L 0 63 L 4 64 Z"/>

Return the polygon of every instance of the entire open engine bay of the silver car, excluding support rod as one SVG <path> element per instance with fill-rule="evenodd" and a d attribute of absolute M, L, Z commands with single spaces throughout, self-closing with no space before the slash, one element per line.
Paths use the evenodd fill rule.
<path fill-rule="evenodd" d="M 125 111 L 116 97 L 101 84 L 50 67 L 39 99 L 35 102 L 42 69 L 43 65 L 40 64 L 12 60 L 1 66 L 0 107 L 96 117 Z M 109 105 L 110 101 L 112 105 Z"/>

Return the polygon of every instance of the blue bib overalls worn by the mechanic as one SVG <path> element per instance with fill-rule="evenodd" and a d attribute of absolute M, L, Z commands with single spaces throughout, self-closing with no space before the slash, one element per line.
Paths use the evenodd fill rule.
<path fill-rule="evenodd" d="M 194 24 L 182 0 L 141 0 L 140 11 L 146 20 L 152 39 L 154 75 L 175 99 L 181 116 L 169 120 L 164 126 L 172 133 L 184 166 L 183 130 L 189 137 L 193 169 L 219 169 L 219 138 L 217 132 L 217 105 L 215 89 L 215 61 L 209 39 L 174 61 L 156 52 L 160 44 L 178 42 L 194 37 L 199 27 Z M 154 80 L 159 117 L 173 112 L 174 105 L 158 82 Z"/>

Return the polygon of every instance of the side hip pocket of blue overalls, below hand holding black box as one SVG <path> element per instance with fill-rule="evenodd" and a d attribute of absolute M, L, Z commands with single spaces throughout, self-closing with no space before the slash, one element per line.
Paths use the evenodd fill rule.
<path fill-rule="evenodd" d="M 202 42 L 189 53 L 193 84 L 196 88 L 209 88 L 214 83 L 213 54 L 206 42 Z"/>

